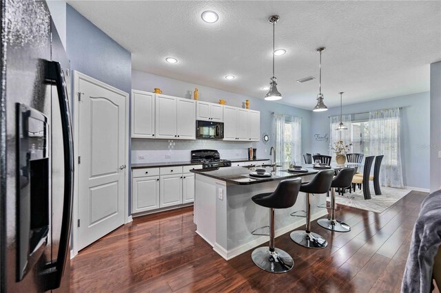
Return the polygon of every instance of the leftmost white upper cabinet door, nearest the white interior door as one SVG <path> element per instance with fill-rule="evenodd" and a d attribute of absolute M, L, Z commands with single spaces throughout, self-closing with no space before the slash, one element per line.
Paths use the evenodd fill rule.
<path fill-rule="evenodd" d="M 132 138 L 154 138 L 154 94 L 132 90 Z"/>

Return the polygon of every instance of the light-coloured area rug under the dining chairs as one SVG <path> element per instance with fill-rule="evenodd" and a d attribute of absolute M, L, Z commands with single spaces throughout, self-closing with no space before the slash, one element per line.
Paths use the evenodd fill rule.
<path fill-rule="evenodd" d="M 349 193 L 346 191 L 345 195 L 338 195 L 336 193 L 336 203 L 345 206 L 352 206 L 353 208 L 360 208 L 362 210 L 371 210 L 375 213 L 382 213 L 389 206 L 395 204 L 404 195 L 407 195 L 411 191 L 408 189 L 391 188 L 381 186 L 382 195 L 375 195 L 373 191 L 373 184 L 371 182 L 371 199 L 365 199 L 363 196 L 363 190 L 356 188 L 356 192 Z M 329 198 L 327 198 L 329 202 Z"/>

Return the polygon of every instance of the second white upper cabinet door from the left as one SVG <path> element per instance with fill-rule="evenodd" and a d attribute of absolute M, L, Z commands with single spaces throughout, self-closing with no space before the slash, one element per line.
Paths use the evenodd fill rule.
<path fill-rule="evenodd" d="M 156 94 L 156 138 L 178 137 L 177 98 Z"/>

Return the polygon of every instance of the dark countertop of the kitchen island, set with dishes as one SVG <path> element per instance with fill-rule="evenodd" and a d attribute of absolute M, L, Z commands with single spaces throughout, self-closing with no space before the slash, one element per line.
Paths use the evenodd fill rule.
<path fill-rule="evenodd" d="M 266 168 L 267 172 L 271 172 L 272 168 Z M 262 182 L 270 182 L 277 180 L 284 180 L 294 177 L 302 177 L 305 175 L 317 174 L 319 171 L 311 168 L 307 168 L 308 173 L 291 173 L 287 171 L 286 167 L 278 167 L 276 172 L 272 173 L 271 177 L 256 178 L 249 176 L 251 171 L 247 168 L 235 166 L 235 167 L 223 167 L 223 168 L 210 168 L 210 169 L 196 169 L 190 170 L 192 173 L 212 177 L 217 180 L 225 181 L 232 184 L 249 185 L 258 184 Z"/>

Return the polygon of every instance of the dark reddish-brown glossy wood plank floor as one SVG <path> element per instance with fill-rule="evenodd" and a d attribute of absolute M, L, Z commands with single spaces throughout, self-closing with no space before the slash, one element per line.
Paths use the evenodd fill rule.
<path fill-rule="evenodd" d="M 271 274 L 254 265 L 251 250 L 225 261 L 194 230 L 192 208 L 134 219 L 72 259 L 72 292 L 399 292 L 413 224 L 427 193 L 412 191 L 372 213 L 339 206 L 347 233 L 318 226 L 327 248 L 296 245 L 289 233 L 276 247 L 294 268 Z M 265 215 L 266 217 L 266 215 Z"/>

